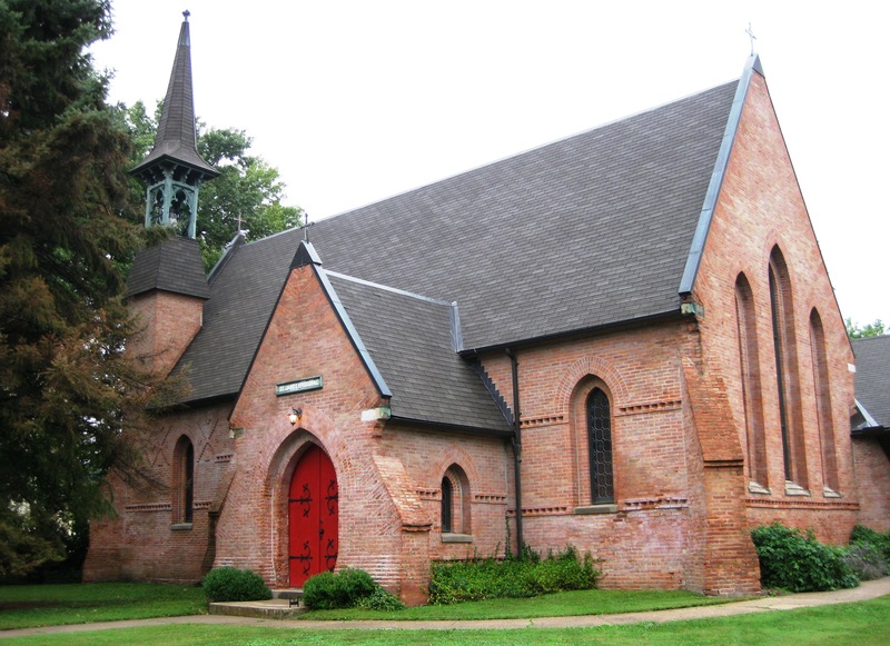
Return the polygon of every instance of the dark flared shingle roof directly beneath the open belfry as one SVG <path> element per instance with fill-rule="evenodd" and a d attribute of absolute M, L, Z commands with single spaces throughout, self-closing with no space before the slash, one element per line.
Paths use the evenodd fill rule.
<path fill-rule="evenodd" d="M 204 262 L 197 240 L 170 238 L 137 254 L 127 277 L 125 296 L 162 289 L 198 298 L 209 298 Z"/>

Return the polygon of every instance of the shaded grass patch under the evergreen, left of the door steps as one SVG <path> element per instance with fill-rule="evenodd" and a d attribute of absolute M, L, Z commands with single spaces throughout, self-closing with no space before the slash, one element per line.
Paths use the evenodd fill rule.
<path fill-rule="evenodd" d="M 207 613 L 201 588 L 154 584 L 0 587 L 0 629 Z"/>

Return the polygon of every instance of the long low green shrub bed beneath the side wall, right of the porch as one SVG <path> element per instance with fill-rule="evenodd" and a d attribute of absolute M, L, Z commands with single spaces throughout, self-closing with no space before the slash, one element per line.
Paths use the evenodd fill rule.
<path fill-rule="evenodd" d="M 597 576 L 600 572 L 594 568 L 591 555 L 585 554 L 582 559 L 572 546 L 543 559 L 526 546 L 522 560 L 476 558 L 434 564 L 429 603 L 444 605 L 591 589 L 596 587 Z"/>

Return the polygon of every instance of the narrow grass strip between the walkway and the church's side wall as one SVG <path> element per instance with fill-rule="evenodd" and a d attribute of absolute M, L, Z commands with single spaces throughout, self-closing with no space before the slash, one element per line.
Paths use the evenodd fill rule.
<path fill-rule="evenodd" d="M 535 617 L 571 617 L 575 615 L 609 615 L 643 610 L 666 610 L 725 604 L 740 599 L 705 597 L 684 590 L 575 590 L 555 593 L 531 599 L 488 599 L 449 606 L 419 606 L 404 610 L 380 612 L 349 608 L 346 610 L 314 610 L 300 619 L 318 620 L 463 620 L 518 619 Z"/>

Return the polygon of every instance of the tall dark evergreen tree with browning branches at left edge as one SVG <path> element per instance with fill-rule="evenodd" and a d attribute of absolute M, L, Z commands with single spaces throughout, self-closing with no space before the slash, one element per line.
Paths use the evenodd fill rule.
<path fill-rule="evenodd" d="M 123 352 L 130 137 L 86 53 L 110 32 L 107 0 L 0 0 L 0 575 L 108 510 L 165 396 Z"/>

